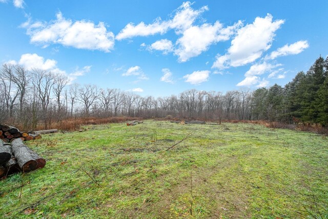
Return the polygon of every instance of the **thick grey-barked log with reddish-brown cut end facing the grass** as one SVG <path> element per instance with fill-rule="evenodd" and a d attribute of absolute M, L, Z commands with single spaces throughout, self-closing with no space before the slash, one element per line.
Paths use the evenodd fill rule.
<path fill-rule="evenodd" d="M 16 138 L 12 143 L 12 152 L 16 158 L 17 164 L 23 172 L 28 172 L 37 169 L 37 162 L 28 151 L 23 141 Z"/>

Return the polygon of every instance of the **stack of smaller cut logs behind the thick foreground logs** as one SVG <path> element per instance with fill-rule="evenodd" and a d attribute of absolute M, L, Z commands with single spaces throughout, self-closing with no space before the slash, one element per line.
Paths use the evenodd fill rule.
<path fill-rule="evenodd" d="M 30 141 L 33 139 L 40 139 L 41 135 L 20 132 L 17 128 L 13 126 L 7 126 L 4 124 L 0 124 L 0 139 L 5 143 L 12 142 L 14 139 L 20 138 L 22 141 Z"/>

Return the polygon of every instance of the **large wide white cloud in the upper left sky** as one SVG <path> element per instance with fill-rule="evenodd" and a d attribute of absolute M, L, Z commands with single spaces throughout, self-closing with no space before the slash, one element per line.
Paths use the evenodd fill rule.
<path fill-rule="evenodd" d="M 98 25 L 90 21 L 75 21 L 66 19 L 58 12 L 57 19 L 49 23 L 28 22 L 22 24 L 31 36 L 30 42 L 47 47 L 50 44 L 77 49 L 100 50 L 109 52 L 114 47 L 114 34 L 107 31 L 105 24 Z"/>

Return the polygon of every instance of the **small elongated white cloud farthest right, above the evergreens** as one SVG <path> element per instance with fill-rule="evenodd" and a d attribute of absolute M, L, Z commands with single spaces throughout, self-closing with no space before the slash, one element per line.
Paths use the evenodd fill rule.
<path fill-rule="evenodd" d="M 269 58 L 275 59 L 279 56 L 286 56 L 286 55 L 296 55 L 303 52 L 304 49 L 309 47 L 308 41 L 298 41 L 291 45 L 284 45 L 283 47 L 278 48 L 276 51 L 273 51 Z"/>

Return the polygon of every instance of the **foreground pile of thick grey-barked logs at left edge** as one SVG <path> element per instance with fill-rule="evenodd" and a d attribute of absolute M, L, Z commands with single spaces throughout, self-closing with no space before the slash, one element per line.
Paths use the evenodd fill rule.
<path fill-rule="evenodd" d="M 19 171 L 29 172 L 43 168 L 46 160 L 27 147 L 20 138 L 11 144 L 0 140 L 0 178 Z"/>

